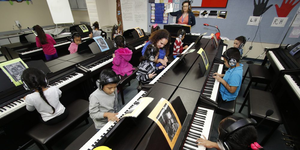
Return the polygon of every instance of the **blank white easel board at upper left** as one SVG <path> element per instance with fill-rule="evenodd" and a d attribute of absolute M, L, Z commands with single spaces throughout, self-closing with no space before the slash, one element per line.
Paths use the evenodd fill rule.
<path fill-rule="evenodd" d="M 73 23 L 73 15 L 68 0 L 47 0 L 54 24 Z"/>

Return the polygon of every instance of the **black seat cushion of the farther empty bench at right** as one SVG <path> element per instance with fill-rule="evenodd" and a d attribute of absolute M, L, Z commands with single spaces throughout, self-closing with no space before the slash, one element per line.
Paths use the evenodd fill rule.
<path fill-rule="evenodd" d="M 258 80 L 257 82 L 261 81 L 261 83 L 270 83 L 272 81 L 272 76 L 266 66 L 249 64 L 248 71 L 253 82 L 256 82 L 255 80 Z"/>

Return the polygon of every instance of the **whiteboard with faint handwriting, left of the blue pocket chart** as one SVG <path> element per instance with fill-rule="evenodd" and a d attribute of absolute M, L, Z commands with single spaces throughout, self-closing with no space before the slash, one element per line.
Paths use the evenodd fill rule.
<path fill-rule="evenodd" d="M 140 27 L 144 32 L 148 32 L 147 0 L 120 0 L 120 2 L 123 30 Z"/>

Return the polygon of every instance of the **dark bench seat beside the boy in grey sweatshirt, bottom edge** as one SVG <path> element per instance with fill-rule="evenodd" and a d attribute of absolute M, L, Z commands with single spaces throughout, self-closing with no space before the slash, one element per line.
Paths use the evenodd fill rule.
<path fill-rule="evenodd" d="M 97 133 L 95 124 L 92 124 L 86 129 L 79 137 L 77 137 L 69 146 L 64 150 L 80 149 L 89 139 Z"/>

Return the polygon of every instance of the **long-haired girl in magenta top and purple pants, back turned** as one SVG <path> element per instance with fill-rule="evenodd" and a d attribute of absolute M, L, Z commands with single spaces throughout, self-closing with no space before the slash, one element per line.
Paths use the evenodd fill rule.
<path fill-rule="evenodd" d="M 42 47 L 46 60 L 58 58 L 54 45 L 56 42 L 51 35 L 45 34 L 43 28 L 39 25 L 32 27 L 33 31 L 38 35 L 35 37 L 37 47 Z"/>

